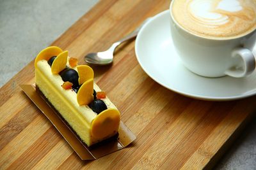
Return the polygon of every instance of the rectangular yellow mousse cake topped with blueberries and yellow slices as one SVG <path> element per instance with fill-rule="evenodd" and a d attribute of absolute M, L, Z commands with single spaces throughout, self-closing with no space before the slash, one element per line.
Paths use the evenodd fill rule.
<path fill-rule="evenodd" d="M 76 66 L 72 59 L 58 46 L 38 53 L 36 87 L 79 138 L 91 146 L 118 133 L 120 113 L 93 82 L 92 68 Z"/>

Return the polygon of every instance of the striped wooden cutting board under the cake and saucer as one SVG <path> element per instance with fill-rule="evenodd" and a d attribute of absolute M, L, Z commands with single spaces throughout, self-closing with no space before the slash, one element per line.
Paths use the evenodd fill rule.
<path fill-rule="evenodd" d="M 108 48 L 169 1 L 100 1 L 52 45 L 79 58 Z M 118 48 L 112 66 L 93 67 L 95 80 L 137 139 L 124 150 L 82 161 L 19 88 L 33 83 L 33 61 L 0 90 L 1 169 L 201 169 L 214 165 L 254 115 L 256 97 L 209 102 L 180 96 L 141 69 L 134 41 Z"/>

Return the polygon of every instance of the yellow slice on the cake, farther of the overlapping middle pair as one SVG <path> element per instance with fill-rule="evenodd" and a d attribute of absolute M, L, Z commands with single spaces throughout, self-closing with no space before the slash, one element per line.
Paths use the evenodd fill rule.
<path fill-rule="evenodd" d="M 86 65 L 77 66 L 77 72 L 79 75 L 79 85 L 83 84 L 85 81 L 89 80 L 90 78 L 93 78 L 94 76 L 92 67 Z"/>

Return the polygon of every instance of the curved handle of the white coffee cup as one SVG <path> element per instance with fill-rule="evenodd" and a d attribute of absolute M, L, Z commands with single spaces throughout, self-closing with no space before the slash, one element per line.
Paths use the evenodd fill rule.
<path fill-rule="evenodd" d="M 247 48 L 235 48 L 231 56 L 236 58 L 240 57 L 243 60 L 243 67 L 238 66 L 232 66 L 227 71 L 225 71 L 225 74 L 232 77 L 244 77 L 249 74 L 251 74 L 255 69 L 255 57 L 253 53 L 248 50 Z"/>

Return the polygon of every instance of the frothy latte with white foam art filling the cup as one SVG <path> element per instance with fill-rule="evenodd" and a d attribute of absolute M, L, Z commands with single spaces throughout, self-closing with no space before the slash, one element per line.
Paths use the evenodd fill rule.
<path fill-rule="evenodd" d="M 256 29 L 256 0 L 173 1 L 174 20 L 196 36 L 232 39 Z"/>

